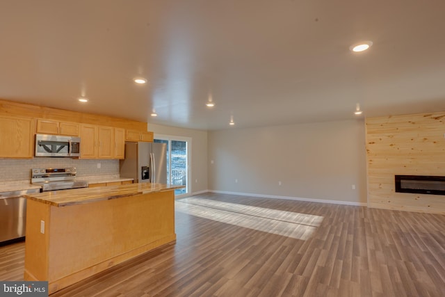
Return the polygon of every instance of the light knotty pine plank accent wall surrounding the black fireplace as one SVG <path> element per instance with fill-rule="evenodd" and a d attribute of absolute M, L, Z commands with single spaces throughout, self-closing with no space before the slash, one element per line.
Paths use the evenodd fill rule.
<path fill-rule="evenodd" d="M 368 206 L 445 214 L 445 195 L 396 193 L 394 175 L 445 176 L 445 111 L 366 118 Z"/>

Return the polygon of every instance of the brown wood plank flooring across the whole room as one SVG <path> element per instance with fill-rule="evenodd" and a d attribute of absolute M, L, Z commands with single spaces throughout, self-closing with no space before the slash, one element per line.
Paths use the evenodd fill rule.
<path fill-rule="evenodd" d="M 205 193 L 176 244 L 51 296 L 445 296 L 445 216 Z M 24 244 L 0 247 L 22 280 Z"/>

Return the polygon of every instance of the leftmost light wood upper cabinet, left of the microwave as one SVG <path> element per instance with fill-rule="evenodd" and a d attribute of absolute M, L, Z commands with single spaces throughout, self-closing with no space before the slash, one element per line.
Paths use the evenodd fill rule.
<path fill-rule="evenodd" d="M 35 120 L 0 116 L 0 158 L 32 158 Z"/>

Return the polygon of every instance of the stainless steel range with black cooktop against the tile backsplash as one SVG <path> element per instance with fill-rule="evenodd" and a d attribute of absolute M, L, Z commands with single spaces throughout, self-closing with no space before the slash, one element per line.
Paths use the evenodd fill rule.
<path fill-rule="evenodd" d="M 76 179 L 76 168 L 33 168 L 31 184 L 42 186 L 42 191 L 86 188 L 88 182 Z"/>

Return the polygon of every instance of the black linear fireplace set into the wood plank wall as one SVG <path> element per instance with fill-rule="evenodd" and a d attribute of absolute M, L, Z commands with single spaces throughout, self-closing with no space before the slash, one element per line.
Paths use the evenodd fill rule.
<path fill-rule="evenodd" d="M 445 177 L 396 175 L 396 192 L 445 195 Z"/>

